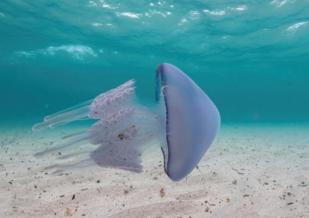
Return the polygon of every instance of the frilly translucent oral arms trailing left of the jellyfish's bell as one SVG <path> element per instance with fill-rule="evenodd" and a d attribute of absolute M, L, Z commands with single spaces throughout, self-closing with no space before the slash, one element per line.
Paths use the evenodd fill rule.
<path fill-rule="evenodd" d="M 165 114 L 165 109 L 158 102 L 135 96 L 134 80 L 130 80 L 92 101 L 47 116 L 44 122 L 34 125 L 34 130 L 42 130 L 86 117 L 96 120 L 91 127 L 63 137 L 67 140 L 64 143 L 34 156 L 40 158 L 61 152 L 60 160 L 69 162 L 50 167 L 57 173 L 72 170 L 74 166 L 92 165 L 141 172 L 141 158 L 146 151 L 162 146 L 158 141 L 165 134 L 161 114 Z M 72 161 L 75 165 L 70 163 Z"/>

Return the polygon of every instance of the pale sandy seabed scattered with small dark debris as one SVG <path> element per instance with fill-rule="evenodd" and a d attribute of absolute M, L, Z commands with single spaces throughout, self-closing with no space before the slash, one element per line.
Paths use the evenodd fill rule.
<path fill-rule="evenodd" d="M 35 152 L 72 132 L 0 128 L 0 217 L 309 217 L 309 125 L 225 125 L 191 174 L 172 182 L 161 151 L 144 172 L 51 175 Z M 63 160 L 61 160 L 63 162 Z"/>

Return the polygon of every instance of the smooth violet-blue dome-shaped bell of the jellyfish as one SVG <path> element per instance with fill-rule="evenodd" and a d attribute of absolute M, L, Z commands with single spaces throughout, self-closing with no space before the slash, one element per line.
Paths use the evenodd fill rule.
<path fill-rule="evenodd" d="M 164 170 L 172 181 L 180 181 L 212 144 L 219 130 L 220 115 L 204 91 L 169 63 L 160 64 L 156 70 L 156 100 L 161 98 L 166 109 L 167 150 L 161 147 Z"/>

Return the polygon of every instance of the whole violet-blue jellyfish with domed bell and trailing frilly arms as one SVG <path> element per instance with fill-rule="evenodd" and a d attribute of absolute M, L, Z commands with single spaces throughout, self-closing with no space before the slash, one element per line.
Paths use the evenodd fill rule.
<path fill-rule="evenodd" d="M 60 157 L 67 162 L 48 167 L 55 172 L 92 165 L 142 172 L 146 151 L 161 149 L 166 175 L 172 181 L 184 179 L 218 133 L 216 106 L 192 79 L 169 63 L 157 67 L 155 100 L 138 97 L 135 90 L 135 80 L 129 80 L 95 99 L 45 117 L 32 127 L 34 131 L 76 120 L 94 119 L 95 123 L 35 156 L 68 151 Z"/>

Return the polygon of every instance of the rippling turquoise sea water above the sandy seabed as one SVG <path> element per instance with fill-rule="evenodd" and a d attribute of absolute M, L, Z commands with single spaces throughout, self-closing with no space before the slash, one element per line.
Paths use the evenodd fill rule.
<path fill-rule="evenodd" d="M 0 1 L 0 121 L 42 117 L 137 79 L 187 73 L 223 123 L 309 121 L 309 1 Z"/>

